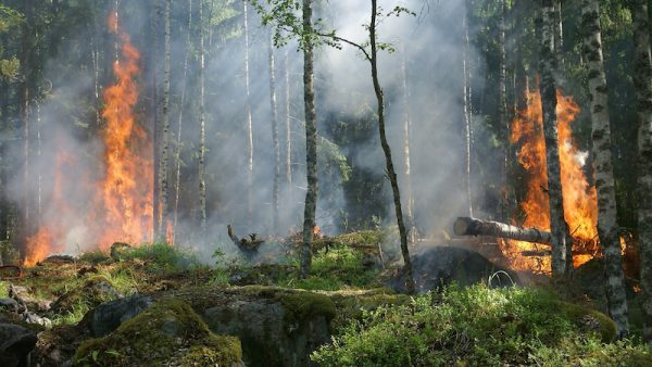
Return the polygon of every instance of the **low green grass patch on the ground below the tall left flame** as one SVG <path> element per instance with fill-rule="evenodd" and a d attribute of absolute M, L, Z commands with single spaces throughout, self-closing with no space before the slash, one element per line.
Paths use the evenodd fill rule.
<path fill-rule="evenodd" d="M 173 273 L 199 266 L 196 255 L 188 250 L 175 248 L 167 243 L 142 244 L 130 251 L 125 251 L 123 260 L 141 260 L 147 263 L 151 273 Z"/>

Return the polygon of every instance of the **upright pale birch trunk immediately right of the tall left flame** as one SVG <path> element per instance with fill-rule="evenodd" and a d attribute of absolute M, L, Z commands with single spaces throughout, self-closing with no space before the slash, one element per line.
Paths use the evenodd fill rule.
<path fill-rule="evenodd" d="M 167 165 L 170 161 L 170 73 L 171 73 L 171 38 L 170 38 L 170 11 L 172 0 L 165 0 L 164 10 L 164 66 L 163 66 L 163 111 L 161 112 L 161 156 L 159 157 L 159 198 L 160 198 L 160 220 L 158 237 L 155 241 L 166 241 L 166 228 L 168 217 L 168 174 Z"/>

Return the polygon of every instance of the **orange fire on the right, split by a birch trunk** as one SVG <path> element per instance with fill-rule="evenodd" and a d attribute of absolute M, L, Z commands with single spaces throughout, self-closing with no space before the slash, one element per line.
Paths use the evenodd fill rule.
<path fill-rule="evenodd" d="M 521 203 L 525 215 L 523 227 L 550 230 L 548 176 L 546 168 L 546 141 L 541 114 L 541 97 L 537 91 L 527 93 L 528 106 L 512 123 L 511 141 L 521 145 L 518 162 L 527 170 L 527 194 Z M 557 118 L 564 217 L 574 239 L 575 267 L 591 260 L 599 252 L 598 204 L 595 188 L 590 186 L 584 172 L 586 153 L 578 151 L 573 141 L 570 124 L 579 113 L 573 98 L 557 91 Z M 519 269 L 550 271 L 549 256 L 525 257 L 523 251 L 541 250 L 535 243 L 503 241 L 503 253 L 511 265 Z"/>

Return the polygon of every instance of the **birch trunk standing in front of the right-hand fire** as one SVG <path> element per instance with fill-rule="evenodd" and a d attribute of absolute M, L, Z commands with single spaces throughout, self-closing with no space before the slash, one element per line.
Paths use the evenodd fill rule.
<path fill-rule="evenodd" d="M 550 225 L 553 233 L 552 275 L 569 277 L 573 255 L 568 226 L 564 220 L 562 178 L 556 118 L 556 54 L 554 49 L 553 0 L 541 1 L 541 51 L 539 53 L 540 91 L 543 112 L 543 136 L 548 170 L 548 195 L 550 198 Z"/>

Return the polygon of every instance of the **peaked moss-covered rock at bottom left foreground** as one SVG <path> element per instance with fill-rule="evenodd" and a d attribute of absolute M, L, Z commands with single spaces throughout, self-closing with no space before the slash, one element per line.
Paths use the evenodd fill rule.
<path fill-rule="evenodd" d="M 241 366 L 240 341 L 216 336 L 184 301 L 165 299 L 77 350 L 74 366 Z"/>

